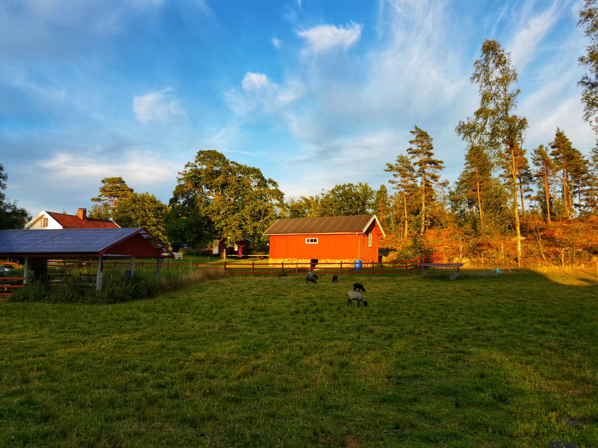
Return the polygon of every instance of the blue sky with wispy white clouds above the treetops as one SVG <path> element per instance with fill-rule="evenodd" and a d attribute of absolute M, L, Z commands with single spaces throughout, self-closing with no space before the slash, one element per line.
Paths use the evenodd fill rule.
<path fill-rule="evenodd" d="M 0 161 L 32 214 L 90 207 L 121 176 L 166 202 L 200 149 L 287 197 L 388 181 L 418 125 L 451 181 L 485 38 L 512 53 L 526 148 L 556 127 L 587 153 L 579 2 L 4 0 Z"/>

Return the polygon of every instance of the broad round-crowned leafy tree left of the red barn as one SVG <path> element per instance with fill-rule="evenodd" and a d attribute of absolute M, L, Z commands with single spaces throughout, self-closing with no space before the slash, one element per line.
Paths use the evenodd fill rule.
<path fill-rule="evenodd" d="M 194 161 L 179 173 L 170 200 L 175 214 L 170 217 L 180 212 L 193 228 L 200 216 L 204 216 L 211 223 L 204 229 L 213 227 L 213 237 L 225 244 L 243 238 L 263 242 L 263 232 L 279 216 L 283 200 L 278 184 L 266 179 L 258 168 L 230 161 L 218 151 L 199 151 Z M 206 237 L 198 235 L 196 239 Z"/>

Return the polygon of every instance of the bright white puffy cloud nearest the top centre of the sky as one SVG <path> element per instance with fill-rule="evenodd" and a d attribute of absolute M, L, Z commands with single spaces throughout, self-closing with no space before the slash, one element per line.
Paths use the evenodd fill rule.
<path fill-rule="evenodd" d="M 346 27 L 319 25 L 297 34 L 306 40 L 304 53 L 324 53 L 334 47 L 348 49 L 359 40 L 362 28 L 361 24 L 351 22 Z"/>

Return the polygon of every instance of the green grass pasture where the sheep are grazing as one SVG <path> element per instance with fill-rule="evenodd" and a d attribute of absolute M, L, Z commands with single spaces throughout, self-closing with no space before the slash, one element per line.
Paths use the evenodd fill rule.
<path fill-rule="evenodd" d="M 596 447 L 595 280 L 229 276 L 0 302 L 0 444 Z M 367 308 L 347 307 L 354 281 Z"/>

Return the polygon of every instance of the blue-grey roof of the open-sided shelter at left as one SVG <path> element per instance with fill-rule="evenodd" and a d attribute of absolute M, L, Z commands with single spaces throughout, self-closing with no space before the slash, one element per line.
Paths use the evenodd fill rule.
<path fill-rule="evenodd" d="M 157 250 L 165 255 L 170 251 L 152 237 L 144 228 L 112 229 L 56 229 L 56 230 L 2 230 L 0 231 L 0 256 L 10 254 L 103 254 L 107 248 L 141 234 Z"/>

